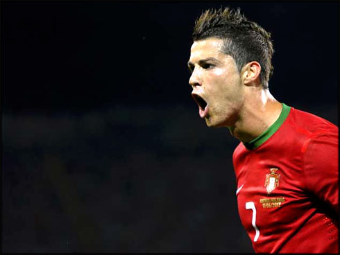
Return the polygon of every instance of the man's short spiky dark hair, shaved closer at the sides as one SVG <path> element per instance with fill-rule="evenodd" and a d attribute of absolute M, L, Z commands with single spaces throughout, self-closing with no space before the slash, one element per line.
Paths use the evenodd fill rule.
<path fill-rule="evenodd" d="M 198 41 L 210 37 L 223 39 L 223 53 L 234 58 L 239 71 L 248 62 L 259 62 L 262 86 L 268 87 L 273 73 L 271 58 L 274 52 L 270 33 L 244 17 L 239 8 L 232 10 L 227 7 L 205 10 L 195 21 L 192 39 Z"/>

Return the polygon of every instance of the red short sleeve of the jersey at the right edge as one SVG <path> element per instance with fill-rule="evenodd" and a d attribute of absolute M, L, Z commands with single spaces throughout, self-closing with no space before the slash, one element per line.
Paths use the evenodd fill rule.
<path fill-rule="evenodd" d="M 307 188 L 339 213 L 339 132 L 317 134 L 303 155 Z"/>

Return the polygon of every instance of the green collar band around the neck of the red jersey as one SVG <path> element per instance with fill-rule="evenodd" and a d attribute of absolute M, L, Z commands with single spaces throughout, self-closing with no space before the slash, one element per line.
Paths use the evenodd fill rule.
<path fill-rule="evenodd" d="M 267 130 L 260 134 L 260 136 L 256 137 L 253 141 L 250 141 L 249 143 L 243 143 L 244 146 L 248 150 L 254 150 L 257 147 L 261 146 L 281 127 L 282 123 L 284 123 L 284 121 L 286 120 L 290 110 L 291 107 L 284 105 L 284 103 L 282 103 L 281 114 L 279 118 L 275 121 L 275 123 L 273 123 L 273 125 L 271 125 Z"/>

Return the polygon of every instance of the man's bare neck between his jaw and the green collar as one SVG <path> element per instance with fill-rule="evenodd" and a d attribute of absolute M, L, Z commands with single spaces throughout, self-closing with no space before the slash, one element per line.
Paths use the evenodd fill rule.
<path fill-rule="evenodd" d="M 270 94 L 269 89 L 250 88 L 244 107 L 230 133 L 244 143 L 253 141 L 278 119 L 282 105 Z"/>

